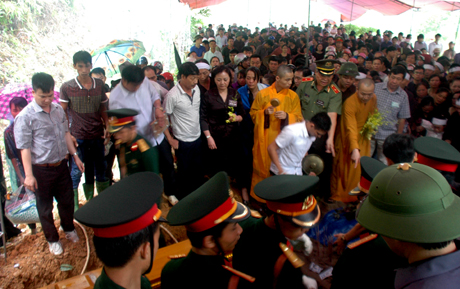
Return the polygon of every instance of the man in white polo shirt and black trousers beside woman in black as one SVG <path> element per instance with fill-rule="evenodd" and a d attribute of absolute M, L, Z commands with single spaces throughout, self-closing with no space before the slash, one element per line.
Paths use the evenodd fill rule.
<path fill-rule="evenodd" d="M 166 114 L 172 134 L 166 130 L 169 144 L 177 157 L 178 199 L 186 197 L 203 183 L 200 127 L 200 71 L 192 62 L 179 67 L 179 83 L 166 95 Z"/>

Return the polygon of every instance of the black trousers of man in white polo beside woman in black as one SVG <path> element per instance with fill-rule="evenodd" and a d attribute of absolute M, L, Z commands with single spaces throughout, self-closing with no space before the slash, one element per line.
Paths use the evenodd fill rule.
<path fill-rule="evenodd" d="M 200 137 L 192 142 L 179 141 L 179 148 L 176 150 L 178 174 L 176 197 L 179 200 L 196 190 L 204 182 L 201 144 Z"/>

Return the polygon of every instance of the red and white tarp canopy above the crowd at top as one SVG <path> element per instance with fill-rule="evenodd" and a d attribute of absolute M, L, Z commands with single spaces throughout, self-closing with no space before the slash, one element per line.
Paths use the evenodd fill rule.
<path fill-rule="evenodd" d="M 217 5 L 226 0 L 180 0 L 191 9 Z M 248 0 L 250 1 L 250 0 Z M 308 0 L 310 1 L 310 0 Z M 444 11 L 460 9 L 460 0 L 318 0 L 342 13 L 342 21 L 353 21 L 367 10 L 375 10 L 383 15 L 399 15 L 411 8 L 436 8 Z"/>

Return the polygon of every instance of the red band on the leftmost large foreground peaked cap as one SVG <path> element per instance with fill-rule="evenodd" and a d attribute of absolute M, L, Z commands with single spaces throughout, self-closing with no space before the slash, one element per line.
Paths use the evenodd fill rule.
<path fill-rule="evenodd" d="M 128 236 L 129 234 L 140 231 L 153 224 L 160 218 L 160 216 L 161 211 L 158 209 L 157 204 L 154 204 L 153 207 L 145 214 L 135 220 L 132 220 L 131 222 L 108 228 L 93 228 L 94 235 L 101 238 L 118 238 Z"/>

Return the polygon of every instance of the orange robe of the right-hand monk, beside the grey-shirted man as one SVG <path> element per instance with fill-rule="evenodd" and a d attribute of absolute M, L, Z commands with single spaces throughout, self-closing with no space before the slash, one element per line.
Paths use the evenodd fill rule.
<path fill-rule="evenodd" d="M 370 156 L 370 140 L 364 138 L 359 132 L 362 130 L 367 118 L 377 108 L 375 94 L 364 104 L 358 98 L 358 92 L 345 100 L 342 107 L 342 116 L 335 135 L 335 158 L 331 175 L 332 199 L 344 203 L 354 202 L 356 197 L 348 193 L 358 186 L 361 178 L 361 166 L 355 169 L 351 161 L 351 153 L 359 149 L 361 156 Z"/>

